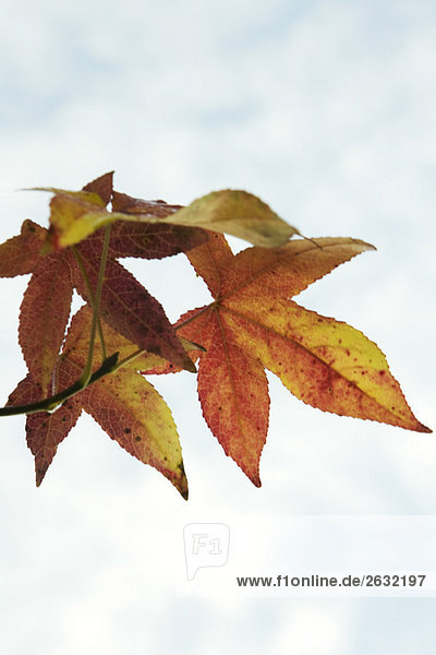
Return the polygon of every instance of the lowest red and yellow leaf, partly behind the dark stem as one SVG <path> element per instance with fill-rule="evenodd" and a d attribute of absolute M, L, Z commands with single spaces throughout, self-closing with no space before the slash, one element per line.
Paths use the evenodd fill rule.
<path fill-rule="evenodd" d="M 80 377 L 88 353 L 92 311 L 85 306 L 74 315 L 58 366 L 59 390 Z M 105 343 L 122 359 L 137 353 L 135 344 L 102 322 Z M 102 358 L 96 344 L 93 369 Z M 154 354 L 141 353 L 123 368 L 95 381 L 63 403 L 56 412 L 32 414 L 26 421 L 27 444 L 35 455 L 36 484 L 40 485 L 60 442 L 68 436 L 84 409 L 121 448 L 162 473 L 187 498 L 187 481 L 181 448 L 171 412 L 154 386 L 137 372 L 161 364 Z M 12 392 L 9 405 L 37 401 L 41 386 L 28 374 Z"/>

